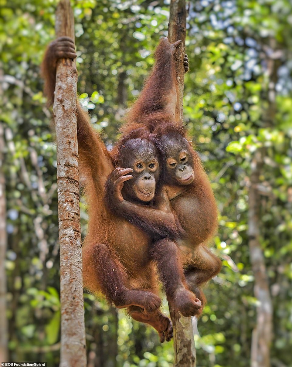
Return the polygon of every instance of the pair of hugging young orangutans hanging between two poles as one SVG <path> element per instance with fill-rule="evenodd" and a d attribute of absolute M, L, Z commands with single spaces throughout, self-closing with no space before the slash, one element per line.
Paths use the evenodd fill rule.
<path fill-rule="evenodd" d="M 173 55 L 179 44 L 161 40 L 153 72 L 112 152 L 77 103 L 79 170 L 89 214 L 84 286 L 152 325 L 161 342 L 172 337 L 172 325 L 159 309 L 153 262 L 167 298 L 186 316 L 200 315 L 201 285 L 220 270 L 207 247 L 217 225 L 211 186 L 186 131 L 175 123 Z M 75 57 L 69 37 L 48 46 L 42 71 L 49 104 L 56 62 Z M 184 64 L 187 71 L 187 56 Z"/>

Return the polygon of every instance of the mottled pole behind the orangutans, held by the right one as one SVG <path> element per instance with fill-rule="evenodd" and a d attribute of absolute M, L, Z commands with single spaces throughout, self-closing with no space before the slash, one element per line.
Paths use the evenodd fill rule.
<path fill-rule="evenodd" d="M 182 43 L 178 46 L 175 52 L 176 80 L 178 83 L 175 117 L 176 121 L 180 121 L 183 124 L 183 82 L 185 78 L 183 58 L 185 56 L 186 40 L 185 0 L 171 0 L 168 39 L 170 43 L 182 40 Z M 171 302 L 168 302 L 168 306 L 174 328 L 174 366 L 195 367 L 196 349 L 191 317 L 182 316 L 178 310 L 175 310 L 172 307 Z"/>

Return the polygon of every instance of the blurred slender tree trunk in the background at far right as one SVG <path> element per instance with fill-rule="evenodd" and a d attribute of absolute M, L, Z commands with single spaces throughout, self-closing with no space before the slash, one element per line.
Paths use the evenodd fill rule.
<path fill-rule="evenodd" d="M 269 47 L 275 49 L 275 40 L 270 40 Z M 275 85 L 279 60 L 266 58 L 266 95 L 263 100 L 268 101 L 268 106 L 262 113 L 264 126 L 272 126 L 275 113 Z M 273 304 L 270 295 L 269 277 L 267 274 L 263 250 L 260 244 L 260 207 L 261 196 L 258 186 L 261 182 L 263 159 L 265 149 L 260 148 L 255 152 L 251 163 L 251 179 L 249 187 L 249 212 L 248 212 L 248 237 L 251 265 L 255 277 L 254 293 L 259 303 L 257 306 L 256 326 L 252 332 L 251 342 L 251 367 L 270 367 L 270 347 L 273 339 Z"/>

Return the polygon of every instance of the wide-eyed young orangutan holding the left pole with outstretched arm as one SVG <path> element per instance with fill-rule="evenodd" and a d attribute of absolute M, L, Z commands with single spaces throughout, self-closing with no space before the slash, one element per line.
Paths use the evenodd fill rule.
<path fill-rule="evenodd" d="M 58 59 L 75 57 L 74 43 L 69 37 L 59 37 L 48 46 L 42 72 L 50 104 L 54 101 Z M 104 185 L 114 169 L 113 160 L 79 103 L 77 135 L 79 169 L 84 177 L 89 214 L 88 234 L 83 243 L 84 285 L 92 292 L 102 292 L 117 308 L 128 308 L 134 319 L 152 325 L 158 331 L 161 342 L 169 340 L 172 337 L 172 325 L 159 310 L 161 301 L 157 296 L 154 269 L 149 257 L 151 239 L 135 225 L 112 214 L 105 206 Z M 120 180 L 121 193 L 130 201 L 151 202 L 160 171 L 157 148 L 150 139 L 141 137 L 141 132 L 136 136 L 130 133 L 125 140 L 129 142 L 127 154 L 121 155 L 123 147 L 117 145 L 114 149 L 116 163 L 134 169 L 138 160 L 143 169 L 131 180 L 132 184 L 127 183 L 124 189 L 125 178 Z M 138 148 L 140 146 L 142 150 Z M 127 174 L 128 171 L 121 174 Z M 176 236 L 176 222 L 171 211 L 168 216 L 165 215 L 164 226 L 164 235 Z"/>

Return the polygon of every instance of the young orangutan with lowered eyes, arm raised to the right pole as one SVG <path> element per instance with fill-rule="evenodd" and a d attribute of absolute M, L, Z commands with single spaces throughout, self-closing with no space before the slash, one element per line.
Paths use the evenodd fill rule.
<path fill-rule="evenodd" d="M 185 129 L 174 123 L 176 80 L 173 55 L 179 42 L 170 44 L 167 37 L 161 40 L 153 71 L 121 131 L 125 133 L 139 126 L 146 127 L 156 137 L 156 145 L 165 157 L 164 189 L 185 236 L 175 241 L 161 237 L 161 241 L 153 245 L 152 256 L 157 262 L 167 297 L 176 303 L 183 315 L 189 316 L 199 315 L 202 307 L 199 302 L 196 302 L 197 307 L 189 307 L 183 297 L 179 298 L 181 291 L 189 288 L 203 304 L 205 298 L 200 287 L 219 273 L 221 261 L 207 247 L 208 239 L 217 228 L 217 208 L 211 185 L 197 153 L 186 139 Z M 188 70 L 187 55 L 184 64 Z M 132 215 L 137 217 L 137 212 L 133 211 Z M 151 219 L 150 215 L 149 222 Z M 158 228 L 153 230 L 152 225 L 153 233 L 158 235 Z M 145 231 L 148 228 L 149 224 L 144 226 Z"/>

